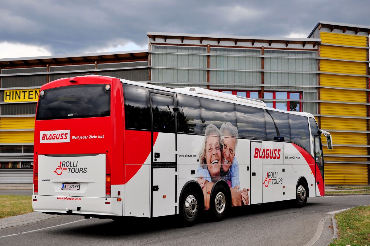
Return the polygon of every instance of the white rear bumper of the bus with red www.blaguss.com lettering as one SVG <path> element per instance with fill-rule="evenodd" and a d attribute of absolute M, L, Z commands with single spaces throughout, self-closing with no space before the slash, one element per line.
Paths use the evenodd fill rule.
<path fill-rule="evenodd" d="M 68 215 L 122 216 L 124 200 L 117 197 L 32 196 L 35 212 Z"/>

